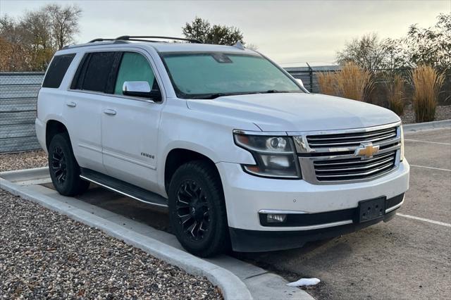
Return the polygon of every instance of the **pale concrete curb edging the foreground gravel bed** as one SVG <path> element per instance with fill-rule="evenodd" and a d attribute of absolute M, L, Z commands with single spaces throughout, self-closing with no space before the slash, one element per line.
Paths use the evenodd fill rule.
<path fill-rule="evenodd" d="M 38 173 L 42 174 L 42 169 L 47 168 L 38 168 L 31 171 L 21 170 L 8 173 L 0 173 L 0 176 L 20 174 L 28 175 L 28 173 L 25 173 L 26 171 L 36 173 L 35 175 L 37 175 Z M 49 196 L 43 194 L 39 194 L 39 196 L 37 196 L 35 195 L 36 193 L 32 191 L 32 189 L 30 189 L 30 187 L 16 185 L 15 183 L 9 182 L 8 180 L 5 180 L 1 177 L 0 188 L 5 189 L 6 191 L 11 192 L 11 194 L 15 194 L 16 196 L 20 196 L 23 199 L 36 202 L 37 204 L 49 208 L 52 211 L 67 215 L 68 217 L 73 218 L 74 220 L 78 220 L 81 223 L 96 227 L 99 230 L 106 232 L 106 234 L 112 237 L 116 237 L 117 239 L 121 239 L 125 243 L 132 246 L 136 246 L 137 248 L 146 251 L 156 258 L 171 263 L 172 265 L 178 266 L 179 268 L 185 270 L 187 273 L 197 276 L 204 276 L 211 283 L 220 287 L 225 299 L 252 299 L 252 295 L 249 292 L 249 289 L 247 289 L 247 286 L 244 282 L 242 282 L 242 280 L 240 280 L 239 277 L 237 277 L 229 270 L 215 265 L 214 263 L 209 263 L 202 258 L 198 258 L 197 256 L 188 254 L 185 251 L 176 249 L 173 246 L 159 242 L 152 237 L 147 237 L 132 230 L 128 230 L 121 225 L 113 223 L 97 215 L 93 215 L 92 213 L 88 213 L 87 211 L 84 211 L 80 208 L 75 208 L 68 204 L 61 203 L 61 201 L 56 201 Z"/>

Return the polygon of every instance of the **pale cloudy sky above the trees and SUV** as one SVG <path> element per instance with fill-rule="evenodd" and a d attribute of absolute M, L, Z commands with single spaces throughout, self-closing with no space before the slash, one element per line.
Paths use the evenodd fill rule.
<path fill-rule="evenodd" d="M 245 42 L 282 65 L 329 65 L 346 42 L 366 33 L 406 35 L 409 25 L 435 24 L 451 13 L 451 0 L 373 1 L 40 1 L 0 0 L 0 14 L 18 17 L 49 3 L 82 8 L 77 42 L 121 35 L 181 37 L 196 16 L 235 26 Z"/>

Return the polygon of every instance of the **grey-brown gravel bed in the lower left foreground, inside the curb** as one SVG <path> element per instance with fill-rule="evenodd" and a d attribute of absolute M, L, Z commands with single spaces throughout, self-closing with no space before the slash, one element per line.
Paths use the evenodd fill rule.
<path fill-rule="evenodd" d="M 222 299 L 100 230 L 0 189 L 0 299 Z"/>

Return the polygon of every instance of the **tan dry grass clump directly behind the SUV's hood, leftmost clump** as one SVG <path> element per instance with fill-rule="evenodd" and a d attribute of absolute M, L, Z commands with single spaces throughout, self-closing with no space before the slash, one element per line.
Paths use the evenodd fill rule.
<path fill-rule="evenodd" d="M 321 73 L 318 81 L 322 94 L 357 101 L 365 101 L 373 89 L 371 71 L 359 68 L 355 63 L 345 63 L 337 72 Z"/>

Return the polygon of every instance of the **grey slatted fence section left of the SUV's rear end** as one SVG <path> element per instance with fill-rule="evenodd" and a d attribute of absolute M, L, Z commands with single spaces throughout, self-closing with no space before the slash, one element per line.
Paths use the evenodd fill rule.
<path fill-rule="evenodd" d="M 39 149 L 36 100 L 44 73 L 0 73 L 0 153 Z"/>

